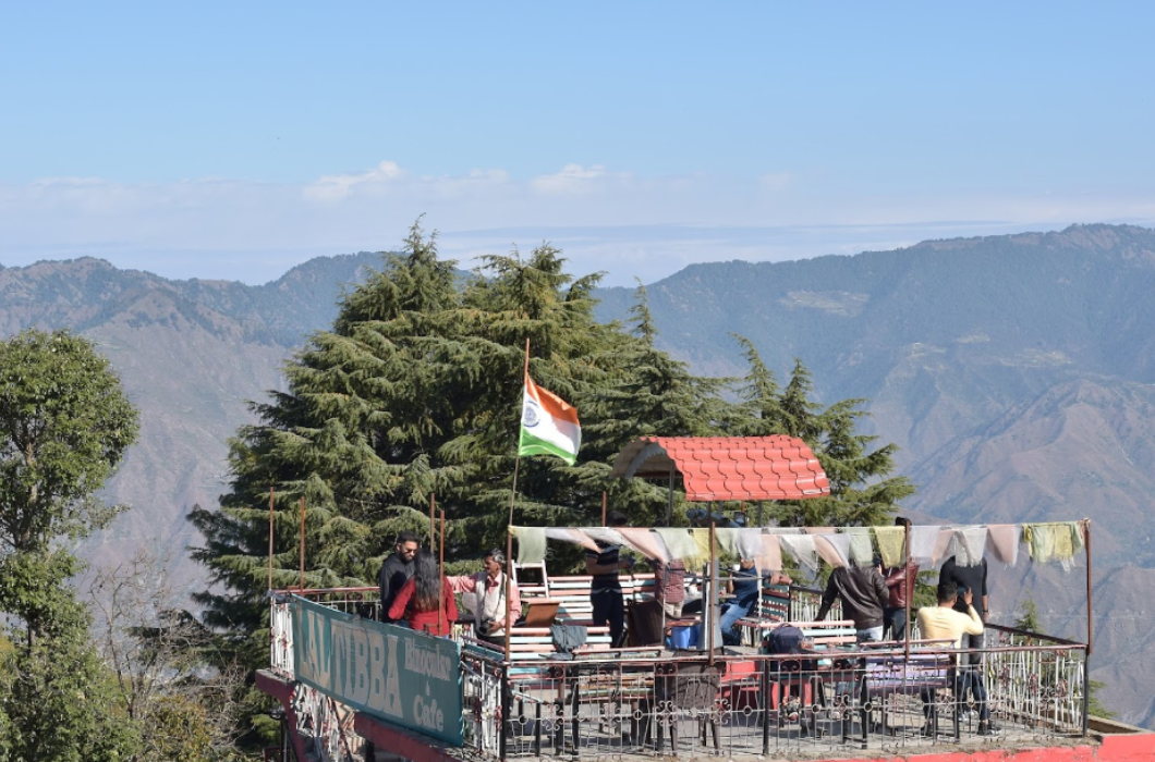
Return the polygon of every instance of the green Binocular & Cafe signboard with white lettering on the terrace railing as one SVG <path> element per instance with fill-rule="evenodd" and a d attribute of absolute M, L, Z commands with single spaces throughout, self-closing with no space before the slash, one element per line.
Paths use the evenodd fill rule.
<path fill-rule="evenodd" d="M 461 648 L 292 597 L 296 678 L 334 700 L 462 745 Z"/>

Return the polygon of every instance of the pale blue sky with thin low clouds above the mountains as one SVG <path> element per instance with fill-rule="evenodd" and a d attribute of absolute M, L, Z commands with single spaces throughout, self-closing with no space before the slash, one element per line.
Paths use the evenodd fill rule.
<path fill-rule="evenodd" d="M 625 6 L 625 7 L 624 7 Z M 1155 224 L 1155 5 L 0 6 L 0 264 L 262 283 L 549 239 L 573 270 Z"/>

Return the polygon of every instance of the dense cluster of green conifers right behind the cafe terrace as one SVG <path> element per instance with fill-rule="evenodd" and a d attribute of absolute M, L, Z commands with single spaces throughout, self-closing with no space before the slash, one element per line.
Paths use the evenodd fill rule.
<path fill-rule="evenodd" d="M 888 470 L 889 450 L 866 451 L 869 439 L 854 433 L 852 404 L 820 414 L 802 376 L 781 399 L 775 391 L 733 402 L 729 380 L 694 376 L 658 348 L 643 289 L 631 326 L 599 323 L 599 275 L 568 275 L 549 245 L 484 257 L 469 276 L 439 260 L 435 242 L 415 225 L 403 249 L 383 255 L 382 269 L 344 297 L 333 327 L 286 363 L 285 390 L 253 404 L 258 420 L 231 443 L 221 506 L 192 513 L 206 538 L 194 558 L 214 582 L 196 598 L 203 619 L 222 633 L 222 648 L 246 655 L 254 667 L 268 658 L 270 565 L 278 589 L 301 581 L 306 588 L 372 584 L 398 530 L 429 532 L 433 496 L 447 518 L 450 569 L 476 570 L 486 550 L 505 545 L 527 339 L 530 374 L 578 408 L 583 441 L 574 466 L 521 460 L 515 523 L 597 523 L 603 491 L 639 524 L 664 518 L 664 481 L 609 478 L 621 447 L 646 434 L 798 429 L 819 444 L 824 463 L 847 465 L 832 477 L 842 505 L 877 513 L 901 496 L 899 483 L 881 493 L 864 488 L 862 498 L 855 492 L 860 480 Z M 763 417 L 759 404 L 800 405 L 815 420 Z M 675 506 L 683 521 L 680 495 Z M 551 563 L 565 572 L 578 555 L 559 552 Z M 256 712 L 253 720 L 261 722 Z"/>

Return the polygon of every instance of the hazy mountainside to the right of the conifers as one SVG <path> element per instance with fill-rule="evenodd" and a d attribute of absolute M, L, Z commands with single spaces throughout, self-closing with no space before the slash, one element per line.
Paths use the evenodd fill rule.
<path fill-rule="evenodd" d="M 1155 584 L 1155 231 L 1086 225 L 699 264 L 648 290 L 660 344 L 700 371 L 740 372 L 742 334 L 772 367 L 800 358 L 822 398 L 869 399 L 873 431 L 900 444 L 918 486 L 914 515 L 1090 517 L 1103 697 L 1120 717 L 1155 722 L 1135 687 L 1155 683 L 1155 611 L 1118 589 Z M 629 291 L 602 297 L 599 315 L 616 318 Z M 1086 637 L 1081 576 L 999 569 L 992 608 L 1009 621 L 1031 597 L 1049 629 Z"/>

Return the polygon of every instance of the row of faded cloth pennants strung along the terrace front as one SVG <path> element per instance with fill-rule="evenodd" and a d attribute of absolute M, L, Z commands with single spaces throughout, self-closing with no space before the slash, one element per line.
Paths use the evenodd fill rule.
<path fill-rule="evenodd" d="M 977 566 L 988 555 L 1008 566 L 1019 562 L 1019 546 L 1035 562 L 1057 561 L 1070 568 L 1085 546 L 1085 521 L 1035 522 L 1026 524 L 937 525 L 910 528 L 909 558 L 923 567 L 934 567 L 955 556 L 960 566 Z M 634 526 L 509 526 L 517 539 L 517 562 L 537 563 L 545 559 L 547 540 L 559 540 L 597 551 L 598 546 L 620 545 L 666 563 L 681 560 L 686 566 L 709 560 L 710 530 L 701 528 Z M 774 526 L 715 529 L 716 554 L 754 559 L 759 569 L 781 570 L 783 553 L 811 574 L 819 560 L 833 567 L 869 566 L 881 558 L 884 566 L 902 566 L 906 530 L 902 526 Z"/>

